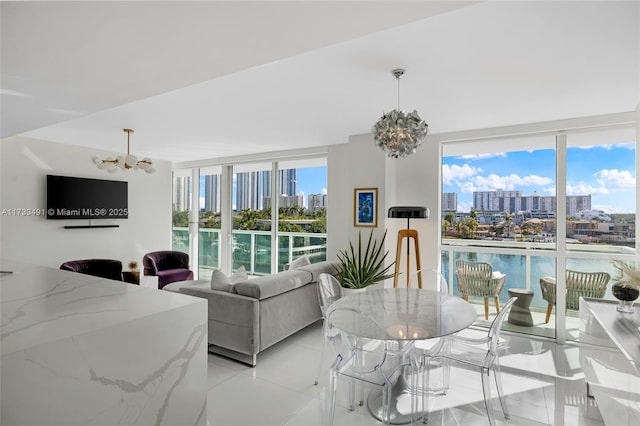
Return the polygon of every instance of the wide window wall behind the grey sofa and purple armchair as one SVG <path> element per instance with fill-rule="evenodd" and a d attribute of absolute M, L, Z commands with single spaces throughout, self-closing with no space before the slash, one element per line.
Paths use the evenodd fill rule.
<path fill-rule="evenodd" d="M 231 272 L 241 266 L 249 275 L 270 274 L 300 256 L 312 263 L 326 259 L 324 155 L 289 156 L 283 161 L 236 159 L 231 164 L 178 169 L 173 188 L 173 248 L 197 255 L 199 278 L 210 277 L 215 269 Z M 277 215 L 272 214 L 274 208 Z M 190 220 L 198 226 L 189 226 Z M 197 232 L 198 244 L 190 232 Z"/>

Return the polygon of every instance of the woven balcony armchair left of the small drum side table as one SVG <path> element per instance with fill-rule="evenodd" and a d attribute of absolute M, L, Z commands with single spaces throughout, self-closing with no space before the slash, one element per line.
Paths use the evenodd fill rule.
<path fill-rule="evenodd" d="M 489 297 L 493 297 L 496 313 L 500 312 L 498 296 L 502 292 L 507 276 L 493 268 L 488 262 L 472 262 L 456 260 L 456 278 L 458 290 L 462 298 L 469 301 L 469 296 L 484 298 L 484 319 L 489 319 Z"/>

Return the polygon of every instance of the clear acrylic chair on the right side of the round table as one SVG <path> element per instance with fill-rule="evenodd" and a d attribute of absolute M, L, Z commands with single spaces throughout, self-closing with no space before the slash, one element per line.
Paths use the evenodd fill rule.
<path fill-rule="evenodd" d="M 427 389 L 428 387 L 430 371 L 434 361 L 444 362 L 443 388 L 445 391 L 449 387 L 449 361 L 455 361 L 469 367 L 478 368 L 482 378 L 482 390 L 487 416 L 489 417 L 489 424 L 495 425 L 495 419 L 491 409 L 491 382 L 489 380 L 489 373 L 493 370 L 496 388 L 498 389 L 498 399 L 500 400 L 504 417 L 508 419 L 509 412 L 503 398 L 502 379 L 500 377 L 500 351 L 504 349 L 504 342 L 500 341 L 500 332 L 502 323 L 516 300 L 516 297 L 512 297 L 502 307 L 493 320 L 487 336 L 472 339 L 454 334 L 442 338 L 442 344 L 439 345 L 437 352 L 425 353 L 421 363 L 425 369 L 423 374 L 423 388 Z M 426 406 L 426 397 L 422 400 L 422 412 L 423 422 L 427 423 L 428 407 Z"/>

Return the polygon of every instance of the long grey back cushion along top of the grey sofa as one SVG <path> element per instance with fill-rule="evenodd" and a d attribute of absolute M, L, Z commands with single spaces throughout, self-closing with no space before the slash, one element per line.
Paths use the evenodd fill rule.
<path fill-rule="evenodd" d="M 231 293 L 262 300 L 302 287 L 312 279 L 311 272 L 295 269 L 235 283 L 231 287 Z"/>

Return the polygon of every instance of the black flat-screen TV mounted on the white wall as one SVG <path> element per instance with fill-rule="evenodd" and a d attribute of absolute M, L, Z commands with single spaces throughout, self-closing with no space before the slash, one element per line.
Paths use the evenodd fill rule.
<path fill-rule="evenodd" d="M 47 175 L 47 219 L 127 219 L 127 184 Z"/>

